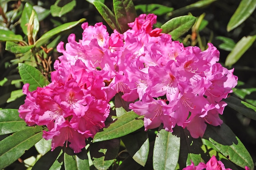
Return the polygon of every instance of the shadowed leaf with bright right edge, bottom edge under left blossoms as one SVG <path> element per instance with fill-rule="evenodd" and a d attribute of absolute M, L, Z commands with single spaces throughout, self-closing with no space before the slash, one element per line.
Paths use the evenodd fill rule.
<path fill-rule="evenodd" d="M 61 147 L 48 151 L 43 157 L 36 161 L 32 170 L 60 170 L 63 163 L 63 152 Z"/>

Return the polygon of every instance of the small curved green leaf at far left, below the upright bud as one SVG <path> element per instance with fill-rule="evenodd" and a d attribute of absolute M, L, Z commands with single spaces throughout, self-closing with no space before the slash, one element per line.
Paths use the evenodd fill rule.
<path fill-rule="evenodd" d="M 12 41 L 7 41 L 6 42 L 6 45 L 5 45 L 5 49 L 7 51 L 10 51 L 14 54 L 23 54 L 27 51 L 29 51 L 29 49 L 33 48 L 34 45 L 25 45 L 25 46 L 22 46 L 22 45 L 19 45 L 15 42 L 12 42 Z"/>

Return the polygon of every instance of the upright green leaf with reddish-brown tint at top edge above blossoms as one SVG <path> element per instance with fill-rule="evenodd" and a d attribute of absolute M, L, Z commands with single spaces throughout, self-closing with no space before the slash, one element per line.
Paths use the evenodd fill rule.
<path fill-rule="evenodd" d="M 121 33 L 124 33 L 130 29 L 128 23 L 134 22 L 137 17 L 134 4 L 132 0 L 113 0 L 113 6 L 117 24 L 121 29 Z"/>

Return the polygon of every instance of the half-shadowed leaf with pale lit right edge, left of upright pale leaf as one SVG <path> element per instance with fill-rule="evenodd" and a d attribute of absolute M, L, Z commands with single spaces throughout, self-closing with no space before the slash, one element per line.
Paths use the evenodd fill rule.
<path fill-rule="evenodd" d="M 136 133 L 127 134 L 126 136 L 121 137 L 121 139 L 132 159 L 134 159 L 141 166 L 145 166 L 146 161 L 148 160 L 149 152 L 149 140 L 147 132 L 141 130 Z"/>

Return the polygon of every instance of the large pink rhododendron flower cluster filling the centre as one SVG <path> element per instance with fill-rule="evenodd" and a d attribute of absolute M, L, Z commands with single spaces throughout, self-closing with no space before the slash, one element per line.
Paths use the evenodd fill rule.
<path fill-rule="evenodd" d="M 27 94 L 20 117 L 28 125 L 47 125 L 45 139 L 52 149 L 70 142 L 79 152 L 85 139 L 104 127 L 108 101 L 122 92 L 130 109 L 144 115 L 145 130 L 163 123 L 172 132 L 175 125 L 187 128 L 191 136 L 204 134 L 206 123 L 222 123 L 225 102 L 221 101 L 237 84 L 233 69 L 222 67 L 219 51 L 184 47 L 172 41 L 162 29 L 153 29 L 154 14 L 141 14 L 131 29 L 109 35 L 101 22 L 83 23 L 82 39 L 68 37 L 57 50 L 63 53 L 54 63 L 52 83 Z M 65 137 L 62 137 L 65 136 Z"/>

